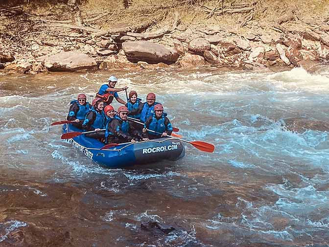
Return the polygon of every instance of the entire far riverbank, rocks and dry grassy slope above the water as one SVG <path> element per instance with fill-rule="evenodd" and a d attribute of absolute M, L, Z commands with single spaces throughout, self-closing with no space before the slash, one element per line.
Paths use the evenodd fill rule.
<path fill-rule="evenodd" d="M 307 69 L 329 60 L 326 0 L 11 3 L 0 6 L 0 69 L 8 73 Z"/>

